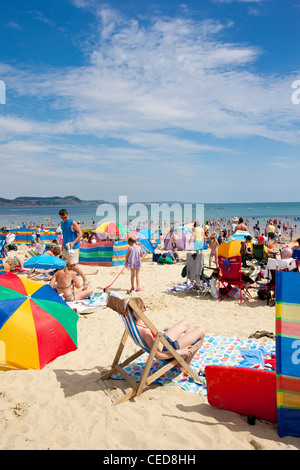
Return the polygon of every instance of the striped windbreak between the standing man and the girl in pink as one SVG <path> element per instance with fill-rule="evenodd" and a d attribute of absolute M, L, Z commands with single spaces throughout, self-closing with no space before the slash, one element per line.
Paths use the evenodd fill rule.
<path fill-rule="evenodd" d="M 123 266 L 127 250 L 126 240 L 81 243 L 79 263 L 89 266 Z"/>

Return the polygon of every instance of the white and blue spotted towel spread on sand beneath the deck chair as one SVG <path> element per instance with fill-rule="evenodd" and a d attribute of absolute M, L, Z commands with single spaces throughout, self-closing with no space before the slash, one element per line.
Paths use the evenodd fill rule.
<path fill-rule="evenodd" d="M 274 341 L 255 341 L 252 339 L 241 340 L 237 337 L 224 337 L 207 333 L 203 346 L 199 349 L 194 356 L 191 366 L 199 373 L 199 382 L 196 383 L 191 377 L 187 377 L 185 373 L 180 373 L 178 369 L 173 367 L 167 374 L 160 377 L 155 383 L 160 385 L 179 385 L 184 390 L 198 394 L 199 396 L 207 395 L 205 367 L 208 365 L 226 365 L 226 366 L 241 366 L 257 368 L 257 361 L 250 360 L 252 356 L 257 359 L 257 352 L 259 355 L 264 349 L 264 353 L 269 357 L 274 355 L 275 343 Z M 135 380 L 138 380 L 145 367 L 148 354 L 145 353 L 136 359 L 130 366 L 124 367 L 124 370 Z M 247 363 L 247 365 L 245 365 Z M 150 369 L 151 373 L 162 365 L 162 361 L 155 360 Z M 268 369 L 264 366 L 263 361 L 260 362 L 261 369 Z M 269 369 L 268 369 L 269 370 Z M 113 379 L 123 380 L 123 378 L 116 374 L 112 376 Z"/>

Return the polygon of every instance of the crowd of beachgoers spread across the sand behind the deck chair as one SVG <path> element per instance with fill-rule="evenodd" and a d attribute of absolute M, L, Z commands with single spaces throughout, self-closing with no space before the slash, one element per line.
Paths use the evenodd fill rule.
<path fill-rule="evenodd" d="M 92 294 L 92 290 L 88 288 L 89 281 L 86 274 L 79 265 L 79 248 L 81 243 L 97 243 L 99 236 L 95 233 L 95 228 L 83 232 L 83 227 L 80 222 L 70 218 L 66 209 L 59 211 L 61 223 L 56 227 L 57 234 L 61 234 L 63 238 L 62 245 L 57 239 L 53 240 L 50 245 L 45 248 L 45 244 L 40 242 L 40 236 L 45 229 L 43 224 L 29 223 L 28 227 L 35 229 L 35 253 L 46 254 L 49 256 L 57 256 L 66 262 L 64 269 L 57 271 L 51 279 L 50 285 L 55 287 L 57 292 L 61 294 L 66 301 L 80 300 Z M 150 224 L 151 225 L 151 224 Z M 52 222 L 48 220 L 48 227 L 52 226 Z M 163 226 L 163 224 L 162 224 Z M 22 228 L 26 228 L 27 224 L 22 222 Z M 181 229 L 184 228 L 184 223 L 181 224 Z M 250 220 L 244 220 L 242 217 L 233 219 L 207 219 L 203 224 L 198 221 L 187 224 L 186 228 L 191 232 L 194 243 L 194 251 L 209 250 L 208 263 L 209 267 L 215 266 L 218 268 L 218 249 L 219 246 L 230 237 L 234 236 L 237 232 L 245 232 L 245 240 L 242 243 L 241 254 L 243 263 L 245 260 L 253 258 L 253 251 L 251 244 L 255 241 L 257 244 L 264 245 L 265 257 L 276 257 L 280 255 L 283 258 L 292 256 L 293 248 L 285 247 L 280 253 L 280 246 L 285 242 L 292 241 L 297 232 L 297 225 L 289 224 L 282 220 L 269 219 L 265 227 L 260 227 L 259 220 L 257 220 L 250 230 Z M 2 230 L 6 229 L 3 227 Z M 138 233 L 137 228 L 136 233 Z M 166 231 L 167 232 L 167 231 Z M 160 263 L 178 263 L 182 260 L 178 250 L 178 238 L 180 231 L 176 228 L 176 224 L 172 225 L 171 233 L 171 246 L 168 251 L 164 251 L 165 237 L 161 225 L 158 227 L 156 234 L 152 231 L 153 238 L 151 241 L 162 251 L 159 254 L 158 262 Z M 181 232 L 182 233 L 182 232 Z M 287 240 L 289 238 L 289 240 Z M 101 237 L 102 239 L 102 237 Z M 107 239 L 105 237 L 105 239 Z M 118 240 L 119 237 L 113 237 Z M 129 292 L 140 292 L 140 269 L 142 266 L 141 260 L 143 251 L 138 240 L 130 236 L 127 240 L 128 251 L 125 259 L 125 267 L 131 271 L 131 287 Z M 300 244 L 300 239 L 297 239 L 296 248 Z M 7 244 L 2 249 L 2 258 L 7 263 L 11 270 L 16 265 L 23 267 L 23 260 L 20 256 L 7 256 L 5 249 Z M 28 255 L 26 255 L 28 256 Z M 82 279 L 80 283 L 79 278 Z"/>

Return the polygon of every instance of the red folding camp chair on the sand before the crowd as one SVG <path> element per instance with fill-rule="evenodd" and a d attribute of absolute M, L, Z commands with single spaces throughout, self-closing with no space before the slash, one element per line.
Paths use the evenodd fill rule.
<path fill-rule="evenodd" d="M 231 295 L 235 300 L 242 303 L 246 295 L 252 299 L 249 293 L 249 283 L 242 279 L 242 258 L 241 256 L 233 256 L 225 258 L 218 256 L 219 262 L 219 300 L 224 299 L 227 295 Z M 222 287 L 220 287 L 222 285 Z M 237 293 L 239 293 L 239 297 Z"/>

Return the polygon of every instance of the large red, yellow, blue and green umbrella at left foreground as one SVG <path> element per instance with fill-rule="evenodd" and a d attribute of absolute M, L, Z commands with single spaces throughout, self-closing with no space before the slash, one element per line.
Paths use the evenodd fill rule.
<path fill-rule="evenodd" d="M 0 368 L 42 369 L 77 349 L 75 313 L 52 287 L 0 276 Z"/>

